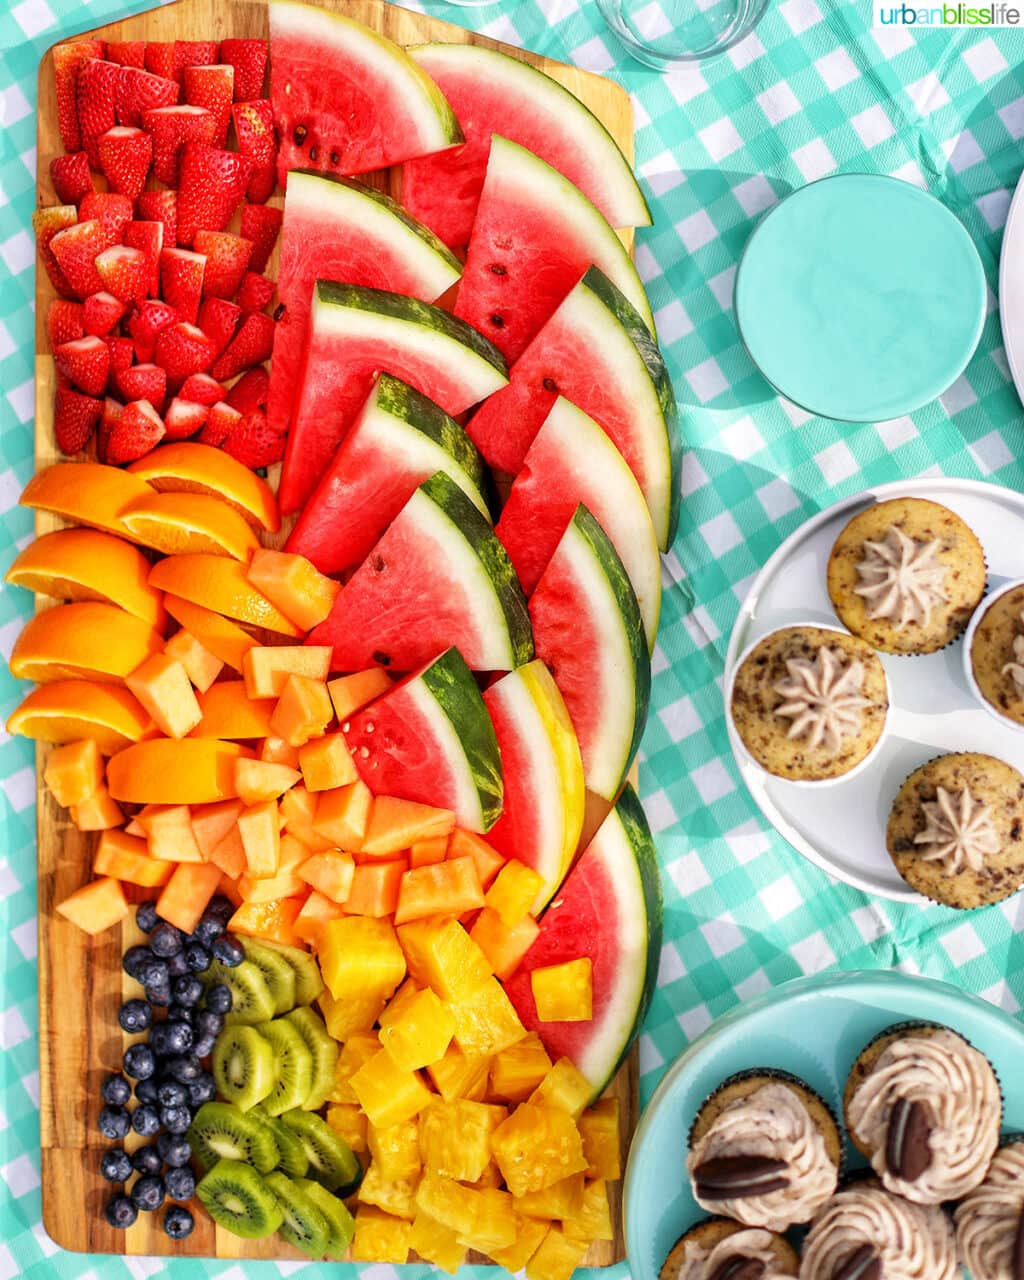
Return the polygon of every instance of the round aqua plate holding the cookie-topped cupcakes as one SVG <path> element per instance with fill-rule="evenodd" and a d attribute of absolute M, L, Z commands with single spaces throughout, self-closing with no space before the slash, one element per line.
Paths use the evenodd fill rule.
<path fill-rule="evenodd" d="M 787 982 L 719 1018 L 676 1060 L 644 1111 L 626 1169 L 626 1251 L 632 1280 L 657 1280 L 666 1254 L 707 1215 L 690 1194 L 686 1151 L 698 1107 L 748 1068 L 792 1071 L 837 1116 L 858 1053 L 893 1023 L 942 1023 L 996 1068 L 1005 1130 L 1024 1130 L 1024 1027 L 1009 1014 L 931 978 L 832 973 Z M 850 1166 L 863 1165 L 847 1144 Z"/>

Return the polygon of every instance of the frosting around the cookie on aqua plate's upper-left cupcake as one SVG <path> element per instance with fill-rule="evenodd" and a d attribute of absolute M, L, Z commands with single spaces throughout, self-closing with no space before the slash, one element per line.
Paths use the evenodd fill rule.
<path fill-rule="evenodd" d="M 750 1158 L 785 1164 L 783 1185 L 749 1196 L 701 1198 L 695 1176 L 699 1167 L 713 1160 Z M 771 1231 L 809 1222 L 838 1179 L 824 1138 L 800 1096 L 774 1080 L 724 1106 L 694 1144 L 686 1167 L 701 1208 Z"/>

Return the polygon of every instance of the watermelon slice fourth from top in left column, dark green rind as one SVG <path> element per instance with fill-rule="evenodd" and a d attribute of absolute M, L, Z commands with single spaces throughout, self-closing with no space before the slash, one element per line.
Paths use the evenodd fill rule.
<path fill-rule="evenodd" d="M 490 520 L 476 445 L 426 396 L 381 374 L 302 508 L 285 550 L 305 556 L 321 573 L 352 568 L 435 471 L 447 472 Z"/>

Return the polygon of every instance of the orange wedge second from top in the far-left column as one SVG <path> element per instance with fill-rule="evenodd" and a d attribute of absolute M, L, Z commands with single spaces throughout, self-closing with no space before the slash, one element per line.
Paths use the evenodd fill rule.
<path fill-rule="evenodd" d="M 96 529 L 59 529 L 29 543 L 5 582 L 60 600 L 105 600 L 159 631 L 168 625 L 163 596 L 146 581 L 150 562 L 122 538 Z"/>

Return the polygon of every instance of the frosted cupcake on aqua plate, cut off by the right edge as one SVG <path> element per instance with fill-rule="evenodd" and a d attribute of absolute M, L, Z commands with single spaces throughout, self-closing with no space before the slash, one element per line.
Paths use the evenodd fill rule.
<path fill-rule="evenodd" d="M 972 1280 L 1024 1276 L 1024 1138 L 1007 1138 L 954 1219 L 960 1261 Z"/>

